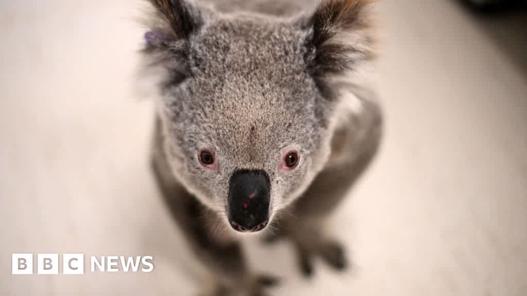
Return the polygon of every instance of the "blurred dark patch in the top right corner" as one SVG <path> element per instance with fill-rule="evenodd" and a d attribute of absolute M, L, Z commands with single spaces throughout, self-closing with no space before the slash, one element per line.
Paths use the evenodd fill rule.
<path fill-rule="evenodd" d="M 527 80 L 527 1 L 501 0 L 489 5 L 473 5 L 470 0 L 455 2 Z"/>

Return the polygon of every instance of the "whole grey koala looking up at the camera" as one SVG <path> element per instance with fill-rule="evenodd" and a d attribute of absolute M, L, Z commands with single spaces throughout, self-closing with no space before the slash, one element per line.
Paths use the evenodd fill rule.
<path fill-rule="evenodd" d="M 249 235 L 284 238 L 300 271 L 343 270 L 325 223 L 376 154 L 372 2 L 149 0 L 152 167 L 213 295 L 261 295 Z"/>

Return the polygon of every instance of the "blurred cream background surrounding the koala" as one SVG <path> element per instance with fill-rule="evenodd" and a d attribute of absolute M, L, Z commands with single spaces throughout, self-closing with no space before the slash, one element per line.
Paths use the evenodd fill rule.
<path fill-rule="evenodd" d="M 386 136 L 334 218 L 354 266 L 317 262 L 306 280 L 290 245 L 249 241 L 253 268 L 284 277 L 272 295 L 527 295 L 527 10 L 468 2 L 378 5 Z M 0 295 L 204 284 L 149 170 L 139 7 L 0 2 Z M 12 253 L 69 252 L 152 255 L 155 269 L 11 274 Z"/>

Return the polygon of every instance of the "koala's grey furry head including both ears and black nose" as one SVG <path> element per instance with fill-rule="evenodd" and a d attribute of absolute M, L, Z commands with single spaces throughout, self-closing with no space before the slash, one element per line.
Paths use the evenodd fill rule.
<path fill-rule="evenodd" d="M 151 3 L 144 53 L 162 70 L 169 165 L 233 229 L 262 230 L 328 160 L 338 101 L 329 77 L 370 55 L 366 1 L 324 1 L 290 19 Z"/>

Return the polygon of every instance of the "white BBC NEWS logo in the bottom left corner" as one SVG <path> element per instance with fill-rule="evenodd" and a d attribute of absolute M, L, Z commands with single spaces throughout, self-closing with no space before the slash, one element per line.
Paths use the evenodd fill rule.
<path fill-rule="evenodd" d="M 33 254 L 13 254 L 13 274 L 33 274 Z M 37 274 L 58 274 L 58 254 L 37 254 Z M 151 272 L 152 256 L 91 256 L 90 271 Z M 62 254 L 62 274 L 84 274 L 84 254 Z"/>

